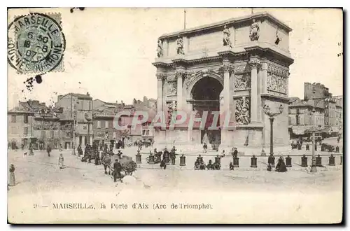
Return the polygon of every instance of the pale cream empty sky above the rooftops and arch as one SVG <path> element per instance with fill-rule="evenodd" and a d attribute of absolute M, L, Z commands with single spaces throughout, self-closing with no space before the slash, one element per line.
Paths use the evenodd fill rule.
<path fill-rule="evenodd" d="M 8 66 L 8 109 L 19 100 L 57 100 L 58 94 L 89 92 L 94 99 L 125 102 L 157 97 L 155 61 L 158 36 L 183 29 L 183 8 L 31 9 L 61 13 L 66 37 L 64 71 L 43 76 L 31 92 L 21 75 Z M 254 8 L 271 13 L 292 28 L 289 97 L 303 97 L 304 82 L 322 83 L 333 95 L 343 94 L 342 11 L 334 9 Z M 251 8 L 186 8 L 186 28 L 251 14 Z M 28 9 L 11 9 L 14 15 Z M 338 43 L 341 43 L 339 45 Z M 22 92 L 24 90 L 24 92 Z"/>

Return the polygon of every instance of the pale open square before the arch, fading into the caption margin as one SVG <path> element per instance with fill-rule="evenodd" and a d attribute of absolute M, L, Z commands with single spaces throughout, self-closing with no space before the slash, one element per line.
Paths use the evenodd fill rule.
<path fill-rule="evenodd" d="M 339 164 L 335 167 L 318 167 L 316 174 L 311 174 L 308 168 L 302 167 L 293 167 L 286 173 L 267 172 L 263 160 L 260 161 L 260 167 L 253 169 L 248 167 L 248 157 L 240 157 L 242 167 L 234 171 L 225 167 L 220 171 L 194 171 L 192 165 L 188 164 L 188 168 L 181 169 L 179 163 L 175 166 L 169 165 L 163 170 L 159 165 L 141 164 L 134 177 L 127 176 L 123 183 L 113 183 L 111 176 L 104 174 L 102 165 L 81 162 L 77 156 L 71 155 L 71 151 L 62 153 L 64 169 L 58 167 L 58 151 L 52 151 L 50 157 L 45 151 L 36 151 L 34 156 L 26 157 L 23 157 L 22 151 L 8 153 L 8 163 L 13 163 L 16 167 L 17 182 L 8 191 L 8 203 L 16 204 L 9 207 L 10 219 L 15 217 L 31 223 L 54 222 L 52 217 L 59 215 L 61 218 L 64 216 L 69 219 L 74 216 L 76 221 L 85 221 L 88 211 L 77 215 L 70 210 L 50 209 L 47 210 L 48 214 L 42 213 L 45 207 L 50 207 L 55 202 L 95 202 L 96 207 L 99 202 L 162 202 L 169 206 L 169 201 L 173 200 L 179 203 L 211 204 L 214 209 L 201 211 L 200 216 L 195 214 L 196 211 L 182 211 L 183 218 L 196 216 L 195 221 L 199 223 L 214 218 L 216 213 L 227 207 L 235 207 L 237 211 L 232 214 L 232 218 L 226 217 L 226 222 L 244 223 L 261 209 L 270 206 L 274 210 L 276 204 L 290 211 L 300 212 L 293 216 L 292 220 L 295 222 L 326 223 L 334 221 L 334 218 L 341 218 L 341 214 L 327 213 L 330 208 L 333 208 L 330 211 L 341 211 L 339 207 L 342 207 L 342 165 Z M 137 149 L 127 148 L 123 153 L 133 156 L 134 159 Z M 223 162 L 225 161 L 223 158 Z M 246 204 L 251 206 L 246 207 Z M 35 206 L 41 209 L 34 209 Z M 308 220 L 309 218 L 302 215 L 310 213 L 310 209 L 320 211 L 316 220 Z M 28 214 L 28 211 L 31 212 Z M 98 217 L 109 222 L 132 221 L 132 216 L 139 216 L 139 221 L 144 223 L 151 221 L 147 219 L 148 216 L 159 217 L 159 221 L 165 223 L 181 222 L 179 219 L 172 221 L 172 216 L 160 215 L 161 211 L 153 211 L 148 216 L 142 211 L 98 211 Z M 31 216 L 33 213 L 39 213 L 40 216 L 35 216 L 34 219 Z M 264 213 L 266 219 L 275 216 L 270 210 Z M 224 221 L 223 219 L 217 218 L 215 221 Z M 279 221 L 290 221 L 290 217 L 282 214 Z M 263 221 L 257 219 L 256 222 Z"/>

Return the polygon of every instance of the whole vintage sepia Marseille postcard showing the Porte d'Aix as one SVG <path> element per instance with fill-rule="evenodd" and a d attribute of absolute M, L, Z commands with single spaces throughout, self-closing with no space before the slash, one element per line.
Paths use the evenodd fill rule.
<path fill-rule="evenodd" d="M 342 8 L 8 9 L 8 223 L 341 223 Z"/>

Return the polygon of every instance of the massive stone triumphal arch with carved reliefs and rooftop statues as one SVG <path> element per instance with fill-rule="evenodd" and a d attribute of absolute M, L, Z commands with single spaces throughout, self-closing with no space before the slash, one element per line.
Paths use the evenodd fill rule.
<path fill-rule="evenodd" d="M 274 119 L 274 152 L 286 151 L 290 31 L 269 13 L 255 13 L 160 36 L 153 63 L 158 112 L 165 113 L 167 125 L 174 119 L 167 115 L 174 112 L 202 118 L 207 111 L 207 117 L 204 126 L 186 122 L 156 128 L 155 147 L 186 152 L 207 143 L 226 153 L 232 147 L 245 155 L 269 153 L 270 124 L 263 106 L 278 111 L 282 104 L 283 112 Z"/>

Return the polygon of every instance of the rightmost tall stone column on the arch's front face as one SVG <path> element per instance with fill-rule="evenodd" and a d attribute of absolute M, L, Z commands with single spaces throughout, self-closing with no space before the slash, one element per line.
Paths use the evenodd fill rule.
<path fill-rule="evenodd" d="M 260 61 L 251 59 L 251 123 L 258 123 L 258 67 Z"/>

